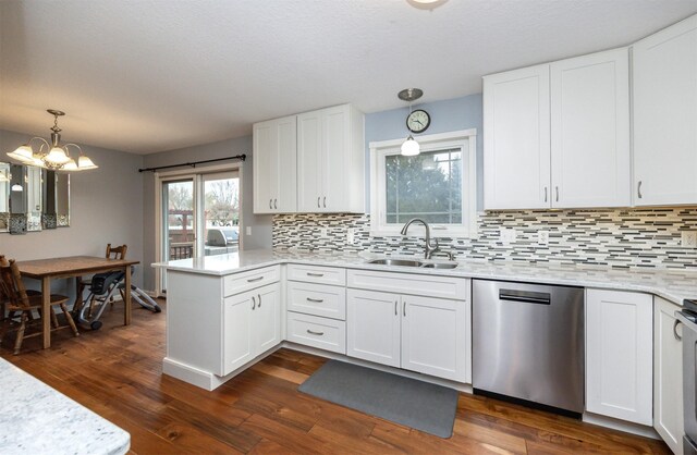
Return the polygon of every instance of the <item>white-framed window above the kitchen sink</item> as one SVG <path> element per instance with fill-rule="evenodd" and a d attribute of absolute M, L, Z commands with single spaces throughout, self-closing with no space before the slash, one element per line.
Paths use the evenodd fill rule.
<path fill-rule="evenodd" d="M 433 236 L 472 235 L 476 131 L 419 136 L 416 157 L 400 155 L 403 140 L 370 143 L 371 234 L 399 235 L 404 223 L 420 218 Z"/>

